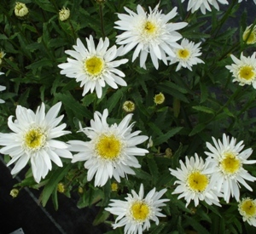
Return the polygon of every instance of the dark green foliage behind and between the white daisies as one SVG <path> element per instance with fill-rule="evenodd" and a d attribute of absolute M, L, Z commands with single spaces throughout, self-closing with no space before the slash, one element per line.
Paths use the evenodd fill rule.
<path fill-rule="evenodd" d="M 121 178 L 117 191 L 112 191 L 111 185 L 116 183 L 113 178 L 106 185 L 95 187 L 94 180 L 87 180 L 88 170 L 84 168 L 84 162 L 71 163 L 69 159 L 64 159 L 62 168 L 54 165 L 39 184 L 34 181 L 29 168 L 25 178 L 15 187 L 40 190 L 42 205 L 45 206 L 51 198 L 58 209 L 58 184 L 61 182 L 67 198 L 72 197 L 73 192 L 79 193 L 79 208 L 100 207 L 93 223 L 99 225 L 113 220 L 104 209 L 110 199 L 124 200 L 127 193 L 137 191 L 143 183 L 147 192 L 154 187 L 156 191 L 166 188 L 164 197 L 170 199 L 162 210 L 166 217 L 160 218 L 159 225 L 151 222 L 148 233 L 253 233 L 253 227 L 242 221 L 235 198 L 228 204 L 220 199 L 222 207 L 204 202 L 196 208 L 191 202 L 187 207 L 183 198 L 178 199 L 172 194 L 177 185 L 169 171 L 169 168 L 180 168 L 180 160 L 194 156 L 195 152 L 206 158 L 206 142 L 212 142 L 212 136 L 218 139 L 223 133 L 238 141 L 244 140 L 246 148 L 256 149 L 255 89 L 252 85 L 232 83 L 232 74 L 225 67 L 232 63 L 230 54 L 239 58 L 241 52 L 249 56 L 255 51 L 255 44 L 244 42 L 242 34 L 248 25 L 255 26 L 256 20 L 248 22 L 247 11 L 240 9 L 242 5 L 234 0 L 228 6 L 221 5 L 219 11 L 211 5 L 212 12 L 201 14 L 198 10 L 192 14 L 180 0 L 22 2 L 29 9 L 29 14 L 22 19 L 15 16 L 14 0 L 2 0 L 0 4 L 0 52 L 5 53 L 3 58 L 0 56 L 0 71 L 4 72 L 0 84 L 6 86 L 0 93 L 0 98 L 5 100 L 0 104 L 1 133 L 9 133 L 8 117 L 15 116 L 17 105 L 36 111 L 42 102 L 49 107 L 61 101 L 62 122 L 72 133 L 61 140 L 86 141 L 84 134 L 77 133 L 79 123 L 89 127 L 94 112 L 102 113 L 105 108 L 108 108 L 109 123 L 120 123 L 127 114 L 123 104 L 125 100 L 131 100 L 135 104 L 132 130 L 142 131 L 141 134 L 148 138 L 151 136 L 153 146 L 148 145 L 146 156 L 137 157 L 141 168 L 132 168 L 135 174 L 127 175 L 127 180 Z M 116 13 L 124 13 L 124 7 L 136 10 L 138 3 L 144 9 L 154 9 L 160 3 L 164 14 L 177 6 L 178 14 L 172 22 L 189 23 L 179 32 L 183 37 L 201 43 L 199 57 L 204 64 L 193 66 L 192 71 L 186 68 L 176 71 L 177 64 L 165 65 L 160 60 L 156 70 L 148 55 L 146 70 L 139 66 L 139 59 L 131 61 L 131 51 L 122 56 L 129 62 L 119 67 L 125 73 L 127 86 L 119 85 L 114 89 L 106 84 L 100 99 L 95 91 L 82 96 L 83 86 L 74 78 L 61 75 L 58 65 L 69 57 L 65 51 L 73 49 L 77 38 L 86 46 L 85 37 L 90 35 L 95 43 L 101 37 L 108 37 L 110 46 L 114 45 L 119 35 L 119 30 L 114 28 L 114 22 L 118 20 Z M 70 18 L 61 21 L 58 14 L 63 6 L 70 9 Z M 236 22 L 239 26 L 230 26 L 238 10 L 241 11 L 241 18 Z M 165 96 L 162 104 L 154 103 L 154 96 L 159 93 Z M 147 140 L 138 147 L 146 149 L 148 143 Z M 9 161 L 8 156 L 4 158 Z M 250 158 L 256 159 L 256 154 Z M 256 176 L 255 167 L 248 165 L 247 170 Z M 250 185 L 255 191 L 256 185 Z M 240 193 L 241 197 L 253 196 L 253 192 L 249 193 L 244 186 Z M 119 228 L 108 233 L 123 231 Z"/>

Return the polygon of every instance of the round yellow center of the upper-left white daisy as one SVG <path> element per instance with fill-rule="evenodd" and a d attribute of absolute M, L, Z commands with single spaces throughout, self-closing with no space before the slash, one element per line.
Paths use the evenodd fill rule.
<path fill-rule="evenodd" d="M 104 61 L 96 56 L 84 61 L 84 68 L 91 76 L 98 76 L 104 68 Z"/>

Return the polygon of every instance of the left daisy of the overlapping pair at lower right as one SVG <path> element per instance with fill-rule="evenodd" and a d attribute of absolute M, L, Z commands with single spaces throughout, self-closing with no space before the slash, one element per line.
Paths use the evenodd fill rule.
<path fill-rule="evenodd" d="M 199 201 L 220 206 L 218 197 L 221 197 L 221 193 L 215 191 L 211 184 L 208 164 L 204 163 L 196 153 L 195 157 L 186 157 L 185 160 L 185 164 L 181 160 L 179 161 L 181 168 L 177 168 L 177 170 L 169 168 L 171 174 L 178 179 L 175 181 L 178 186 L 172 193 L 180 194 L 177 199 L 184 197 L 187 202 L 186 206 L 191 200 L 194 200 L 195 207 Z"/>

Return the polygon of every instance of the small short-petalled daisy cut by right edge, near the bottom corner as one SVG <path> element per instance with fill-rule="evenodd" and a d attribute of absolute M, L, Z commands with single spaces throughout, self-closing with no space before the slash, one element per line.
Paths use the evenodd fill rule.
<path fill-rule="evenodd" d="M 244 222 L 256 226 L 256 199 L 242 198 L 238 204 L 238 210 Z"/>

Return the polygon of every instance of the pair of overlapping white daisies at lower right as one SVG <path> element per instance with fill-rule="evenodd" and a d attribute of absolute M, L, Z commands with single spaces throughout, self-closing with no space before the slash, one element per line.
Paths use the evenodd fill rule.
<path fill-rule="evenodd" d="M 181 169 L 170 168 L 179 184 L 173 193 L 180 193 L 178 198 L 184 197 L 187 205 L 191 200 L 194 200 L 195 206 L 199 200 L 219 205 L 218 197 L 223 197 L 226 203 L 230 202 L 230 197 L 235 197 L 238 202 L 241 185 L 252 191 L 246 180 L 253 182 L 256 178 L 243 165 L 256 163 L 256 160 L 247 160 L 253 150 L 248 148 L 242 151 L 243 141 L 236 144 L 236 139 L 232 137 L 230 140 L 226 134 L 223 134 L 222 141 L 213 137 L 212 140 L 214 146 L 207 142 L 210 152 L 205 152 L 208 156 L 206 163 L 195 154 L 195 158 L 190 157 L 190 160 L 186 157 L 186 165 L 180 161 Z"/>

